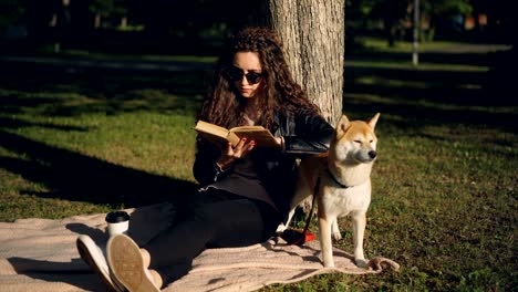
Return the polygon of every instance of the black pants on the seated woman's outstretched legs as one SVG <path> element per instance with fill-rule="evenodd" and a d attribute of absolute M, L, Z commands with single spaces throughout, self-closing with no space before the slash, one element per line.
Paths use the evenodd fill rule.
<path fill-rule="evenodd" d="M 266 202 L 209 188 L 195 195 L 186 216 L 143 248 L 164 284 L 185 275 L 207 248 L 236 248 L 266 241 L 280 216 Z M 185 210 L 184 210 L 185 211 Z"/>

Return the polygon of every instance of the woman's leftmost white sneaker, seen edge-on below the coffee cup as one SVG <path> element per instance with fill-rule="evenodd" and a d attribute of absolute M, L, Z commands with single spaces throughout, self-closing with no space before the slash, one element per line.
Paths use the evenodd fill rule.
<path fill-rule="evenodd" d="M 95 242 L 89 237 L 81 234 L 75 241 L 77 251 L 81 258 L 90 265 L 95 273 L 101 277 L 101 280 L 108 286 L 110 291 L 124 292 L 123 288 L 120 288 L 110 278 L 110 269 L 106 263 L 103 250 L 95 244 Z"/>

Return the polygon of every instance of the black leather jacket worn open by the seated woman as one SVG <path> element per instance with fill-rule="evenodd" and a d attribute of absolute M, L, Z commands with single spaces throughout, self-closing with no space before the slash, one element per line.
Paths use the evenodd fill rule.
<path fill-rule="evenodd" d="M 321 116 L 286 116 L 278 113 L 270 131 L 274 136 L 283 137 L 283 150 L 256 148 L 249 155 L 256 157 L 256 171 L 260 181 L 274 201 L 274 207 L 284 216 L 289 211 L 289 201 L 298 178 L 296 158 L 327 152 L 334 128 Z M 193 173 L 201 186 L 222 180 L 232 171 L 232 168 L 220 171 L 216 166 L 219 148 L 200 139 L 197 147 Z"/>

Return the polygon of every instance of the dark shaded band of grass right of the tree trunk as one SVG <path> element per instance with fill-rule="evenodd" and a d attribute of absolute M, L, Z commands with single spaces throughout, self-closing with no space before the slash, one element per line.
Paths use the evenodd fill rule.
<path fill-rule="evenodd" d="M 507 58 L 516 54 L 512 51 L 500 54 Z M 515 83 L 508 73 L 511 65 L 500 62 L 484 72 L 346 64 L 343 111 L 365 117 L 388 113 L 397 117 L 391 123 L 398 128 L 464 124 L 514 132 L 518 101 L 510 96 Z"/>

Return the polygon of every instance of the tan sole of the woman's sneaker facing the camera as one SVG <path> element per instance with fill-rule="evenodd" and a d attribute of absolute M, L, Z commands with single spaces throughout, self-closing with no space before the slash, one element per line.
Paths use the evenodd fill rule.
<path fill-rule="evenodd" d="M 107 243 L 107 261 L 112 280 L 130 292 L 159 292 L 147 267 L 144 267 L 141 249 L 127 236 L 111 237 Z"/>

